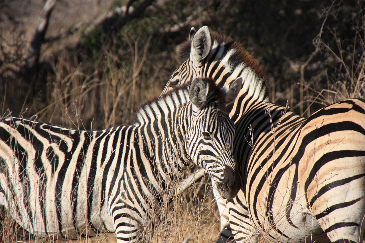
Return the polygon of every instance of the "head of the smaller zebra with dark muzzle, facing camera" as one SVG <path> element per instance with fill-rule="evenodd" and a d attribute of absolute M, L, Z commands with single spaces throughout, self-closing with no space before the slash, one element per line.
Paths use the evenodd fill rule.
<path fill-rule="evenodd" d="M 241 78 L 224 89 L 206 78 L 195 78 L 189 85 L 192 116 L 184 125 L 185 151 L 195 165 L 207 170 L 213 186 L 226 199 L 241 188 L 231 149 L 235 127 L 226 112 L 226 104 L 235 99 L 241 85 Z"/>

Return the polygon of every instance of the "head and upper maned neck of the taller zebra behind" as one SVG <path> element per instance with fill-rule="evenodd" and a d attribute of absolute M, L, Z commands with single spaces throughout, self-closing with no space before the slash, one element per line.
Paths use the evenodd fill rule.
<path fill-rule="evenodd" d="M 262 66 L 240 43 L 228 36 L 210 32 L 207 26 L 198 31 L 191 28 L 188 40 L 178 50 L 178 56 L 184 61 L 172 73 L 162 93 L 195 77 L 213 78 L 220 87 L 242 77 L 242 92 L 239 95 L 249 91 L 254 97 L 265 97 L 266 74 Z"/>

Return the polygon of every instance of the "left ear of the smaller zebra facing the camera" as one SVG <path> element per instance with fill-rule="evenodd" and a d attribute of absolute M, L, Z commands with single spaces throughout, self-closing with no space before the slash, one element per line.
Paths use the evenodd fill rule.
<path fill-rule="evenodd" d="M 189 98 L 197 108 L 201 109 L 207 105 L 208 83 L 201 78 L 195 78 L 189 86 Z"/>

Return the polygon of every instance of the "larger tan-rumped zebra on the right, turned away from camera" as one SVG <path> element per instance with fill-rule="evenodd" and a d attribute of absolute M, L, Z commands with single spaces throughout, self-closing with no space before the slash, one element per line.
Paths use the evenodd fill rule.
<path fill-rule="evenodd" d="M 232 232 L 237 242 L 359 242 L 365 224 L 365 100 L 335 103 L 308 119 L 269 103 L 258 62 L 206 26 L 191 29 L 179 55 L 185 61 L 164 92 L 194 77 L 214 78 L 221 87 L 243 80 L 228 107 L 242 190 L 233 200 L 215 192 L 226 227 L 219 242 Z"/>

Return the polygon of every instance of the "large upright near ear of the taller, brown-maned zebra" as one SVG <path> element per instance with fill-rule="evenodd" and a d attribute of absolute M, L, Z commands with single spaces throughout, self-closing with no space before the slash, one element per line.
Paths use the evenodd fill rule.
<path fill-rule="evenodd" d="M 208 56 L 212 47 L 210 32 L 207 26 L 201 27 L 196 33 L 190 31 L 191 51 L 190 59 L 193 62 L 200 62 Z"/>

